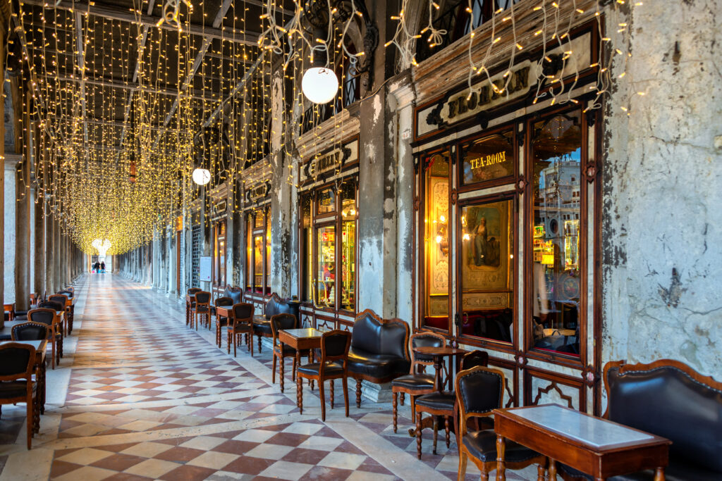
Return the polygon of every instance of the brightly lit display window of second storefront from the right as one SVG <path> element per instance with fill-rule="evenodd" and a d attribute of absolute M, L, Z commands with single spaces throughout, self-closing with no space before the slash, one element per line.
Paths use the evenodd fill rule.
<path fill-rule="evenodd" d="M 344 180 L 301 195 L 301 293 L 318 308 L 356 309 L 357 190 Z"/>

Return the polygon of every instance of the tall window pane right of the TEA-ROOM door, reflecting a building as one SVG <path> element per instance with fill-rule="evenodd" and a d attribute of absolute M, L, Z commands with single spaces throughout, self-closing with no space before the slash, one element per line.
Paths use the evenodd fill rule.
<path fill-rule="evenodd" d="M 579 355 L 580 113 L 534 124 L 534 347 Z"/>

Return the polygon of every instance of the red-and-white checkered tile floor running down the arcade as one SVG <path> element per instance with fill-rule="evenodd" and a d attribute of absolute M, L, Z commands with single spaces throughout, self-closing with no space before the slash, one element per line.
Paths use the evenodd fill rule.
<path fill-rule="evenodd" d="M 308 385 L 298 413 L 290 361 L 285 393 L 271 384 L 269 348 L 228 356 L 215 330 L 186 327 L 178 301 L 119 275 L 85 275 L 76 293 L 73 335 L 60 366 L 48 368 L 32 451 L 25 405 L 3 406 L 0 481 L 456 479 L 456 445 L 446 449 L 443 433 L 434 455 L 425 432 L 416 458 L 408 403 L 394 434 L 390 403 L 357 409 L 350 394 L 344 418 L 338 383 L 322 423 Z M 479 479 L 471 462 L 466 478 Z M 507 479 L 536 480 L 536 468 Z"/>

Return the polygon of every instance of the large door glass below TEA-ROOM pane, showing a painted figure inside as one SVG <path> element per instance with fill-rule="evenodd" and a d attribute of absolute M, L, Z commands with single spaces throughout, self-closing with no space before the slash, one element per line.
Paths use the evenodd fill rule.
<path fill-rule="evenodd" d="M 513 200 L 466 205 L 459 216 L 461 334 L 513 343 Z"/>

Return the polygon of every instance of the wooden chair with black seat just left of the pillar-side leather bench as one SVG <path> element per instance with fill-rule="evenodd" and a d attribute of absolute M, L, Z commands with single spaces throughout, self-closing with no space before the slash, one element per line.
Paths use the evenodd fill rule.
<path fill-rule="evenodd" d="M 348 363 L 351 332 L 332 330 L 321 336 L 321 362 L 308 363 L 296 369 L 296 398 L 303 414 L 303 379 L 318 381 L 318 393 L 321 394 L 321 420 L 326 420 L 326 395 L 323 393 L 324 381 L 331 381 L 331 409 L 334 409 L 334 379 L 342 379 L 344 387 L 344 405 L 346 417 L 349 417 Z"/>

